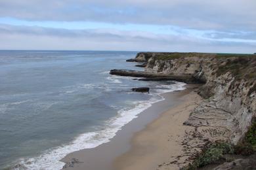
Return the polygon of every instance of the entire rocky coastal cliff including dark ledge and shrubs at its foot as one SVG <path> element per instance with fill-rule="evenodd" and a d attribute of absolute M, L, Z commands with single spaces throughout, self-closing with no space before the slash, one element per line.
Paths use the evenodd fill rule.
<path fill-rule="evenodd" d="M 140 52 L 129 61 L 144 62 L 146 67 L 144 71 L 112 70 L 110 74 L 202 84 L 195 90 L 202 99 L 195 101 L 183 122 L 190 130 L 182 136 L 182 154 L 161 163 L 158 170 L 173 166 L 197 169 L 228 161 L 225 154 L 248 156 L 256 152 L 255 54 Z M 233 164 L 220 167 L 226 165 Z M 256 167 L 255 163 L 243 166 Z"/>

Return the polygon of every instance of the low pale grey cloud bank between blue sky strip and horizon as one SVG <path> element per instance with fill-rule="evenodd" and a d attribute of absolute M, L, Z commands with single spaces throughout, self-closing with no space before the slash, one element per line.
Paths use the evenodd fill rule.
<path fill-rule="evenodd" d="M 188 35 L 161 35 L 114 29 L 52 29 L 0 24 L 1 49 L 144 50 L 179 52 L 255 52 L 255 43 L 221 42 Z"/>

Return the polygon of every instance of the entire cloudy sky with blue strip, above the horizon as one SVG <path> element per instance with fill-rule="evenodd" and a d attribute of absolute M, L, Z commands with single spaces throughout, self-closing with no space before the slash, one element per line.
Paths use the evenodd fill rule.
<path fill-rule="evenodd" d="M 1 50 L 256 52 L 255 0 L 0 0 Z"/>

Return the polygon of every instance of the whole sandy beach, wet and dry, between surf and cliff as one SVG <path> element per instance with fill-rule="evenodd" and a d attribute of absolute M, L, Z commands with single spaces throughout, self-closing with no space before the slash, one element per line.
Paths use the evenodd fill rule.
<path fill-rule="evenodd" d="M 62 159 L 69 163 L 64 169 L 156 169 L 169 161 L 182 152 L 182 135 L 192 128 L 182 123 L 200 100 L 193 88 L 189 85 L 181 92 L 164 93 L 164 101 L 141 112 L 110 142 L 68 154 Z"/>

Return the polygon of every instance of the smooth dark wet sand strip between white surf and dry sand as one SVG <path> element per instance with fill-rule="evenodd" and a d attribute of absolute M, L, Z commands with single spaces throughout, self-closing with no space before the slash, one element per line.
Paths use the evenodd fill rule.
<path fill-rule="evenodd" d="M 61 160 L 66 163 L 64 169 L 114 169 L 116 159 L 133 149 L 131 140 L 137 136 L 137 133 L 148 128 L 148 124 L 161 118 L 167 110 L 181 105 L 184 102 L 184 96 L 193 92 L 194 87 L 192 84 L 186 84 L 186 90 L 161 94 L 165 98 L 163 101 L 153 103 L 150 108 L 140 112 L 138 118 L 123 126 L 108 143 L 65 156 Z"/>

